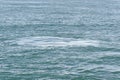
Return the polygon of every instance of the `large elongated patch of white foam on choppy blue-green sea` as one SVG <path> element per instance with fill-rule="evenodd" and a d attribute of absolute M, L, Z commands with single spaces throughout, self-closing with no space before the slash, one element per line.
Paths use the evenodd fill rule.
<path fill-rule="evenodd" d="M 74 38 L 60 38 L 60 37 L 26 37 L 20 38 L 16 41 L 18 45 L 24 46 L 40 46 L 40 47 L 76 47 L 76 46 L 99 46 L 99 42 L 95 40 L 81 40 Z"/>

